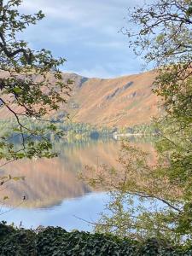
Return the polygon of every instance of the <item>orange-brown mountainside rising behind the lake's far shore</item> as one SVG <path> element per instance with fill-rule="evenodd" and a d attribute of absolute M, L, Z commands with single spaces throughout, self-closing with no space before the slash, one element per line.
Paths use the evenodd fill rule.
<path fill-rule="evenodd" d="M 152 93 L 155 73 L 134 74 L 116 79 L 88 79 L 64 73 L 73 80 L 72 96 L 58 114 L 67 111 L 76 122 L 103 126 L 131 126 L 148 123 L 158 115 L 158 98 Z M 19 111 L 19 109 L 17 109 Z M 0 109 L 0 118 L 9 112 Z"/>

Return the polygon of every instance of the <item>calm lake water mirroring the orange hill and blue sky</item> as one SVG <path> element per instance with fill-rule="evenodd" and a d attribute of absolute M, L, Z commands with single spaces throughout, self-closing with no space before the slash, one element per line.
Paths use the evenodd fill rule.
<path fill-rule="evenodd" d="M 154 148 L 151 143 L 140 140 L 137 145 L 149 151 L 153 160 Z M 0 192 L 1 197 L 9 196 L 6 205 L 0 208 L 0 220 L 16 225 L 21 223 L 27 228 L 58 225 L 66 230 L 92 230 L 92 226 L 84 220 L 96 222 L 100 212 L 105 211 L 108 194 L 92 191 L 79 180 L 78 173 L 84 172 L 87 165 L 118 167 L 116 160 L 120 143 L 114 140 L 71 144 L 60 142 L 56 143 L 55 149 L 61 152 L 58 158 L 16 161 L 1 170 L 0 176 L 10 173 L 26 178 L 9 183 Z M 26 201 L 22 201 L 24 195 Z"/>

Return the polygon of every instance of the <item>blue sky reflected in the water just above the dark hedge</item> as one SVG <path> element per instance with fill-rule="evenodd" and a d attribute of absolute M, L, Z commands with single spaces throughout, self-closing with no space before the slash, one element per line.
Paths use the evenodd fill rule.
<path fill-rule="evenodd" d="M 96 223 L 104 205 L 108 201 L 106 193 L 91 193 L 71 200 L 62 201 L 60 206 L 49 209 L 22 209 L 16 208 L 0 216 L 9 224 L 20 224 L 28 229 L 35 229 L 39 225 L 61 226 L 65 230 L 86 230 L 91 231 Z M 3 211 L 8 208 L 3 208 Z M 82 219 L 79 219 L 82 218 Z"/>

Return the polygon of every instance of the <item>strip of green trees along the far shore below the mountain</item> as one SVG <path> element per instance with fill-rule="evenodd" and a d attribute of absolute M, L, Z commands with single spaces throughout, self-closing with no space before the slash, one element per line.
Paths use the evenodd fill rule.
<path fill-rule="evenodd" d="M 62 118 L 61 118 L 62 116 Z M 129 133 L 134 136 L 134 134 L 139 133 L 144 137 L 152 137 L 157 134 L 157 131 L 152 124 L 134 125 L 132 127 L 122 127 L 122 128 L 110 128 L 104 126 L 95 126 L 84 123 L 75 123 L 66 120 L 66 114 L 60 113 L 56 116 L 51 116 L 49 130 L 46 131 L 44 135 L 50 139 L 53 144 L 54 141 L 58 142 L 58 139 L 62 138 L 67 140 L 69 143 L 75 141 L 87 141 L 88 139 L 97 138 L 111 138 L 113 133 Z M 33 120 L 31 122 L 28 119 L 22 119 L 23 125 L 27 126 L 30 130 L 42 130 L 47 127 L 47 123 L 42 121 Z M 0 120 L 0 137 L 8 137 L 9 141 L 17 143 L 22 143 L 22 137 L 15 136 L 15 127 L 17 122 L 15 119 L 2 119 Z M 52 127 L 52 130 L 50 129 Z M 14 131 L 14 133 L 13 133 Z M 19 149 L 19 148 L 18 148 Z"/>

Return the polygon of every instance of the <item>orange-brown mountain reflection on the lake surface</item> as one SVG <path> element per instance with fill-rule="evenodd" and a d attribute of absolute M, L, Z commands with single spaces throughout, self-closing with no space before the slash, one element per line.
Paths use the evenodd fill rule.
<path fill-rule="evenodd" d="M 63 199 L 78 197 L 89 193 L 91 189 L 79 181 L 78 172 L 84 166 L 108 164 L 117 166 L 119 142 L 93 141 L 66 145 L 56 143 L 55 149 L 60 150 L 59 158 L 47 160 L 22 160 L 6 166 L 3 175 L 11 173 L 13 176 L 25 176 L 24 181 L 9 184 L 3 191 L 9 195 L 10 205 L 16 205 L 23 195 L 27 196 L 22 207 L 49 207 L 59 204 Z M 140 146 L 150 150 L 154 155 L 153 146 L 141 143 Z M 153 156 L 154 158 L 154 156 Z"/>

